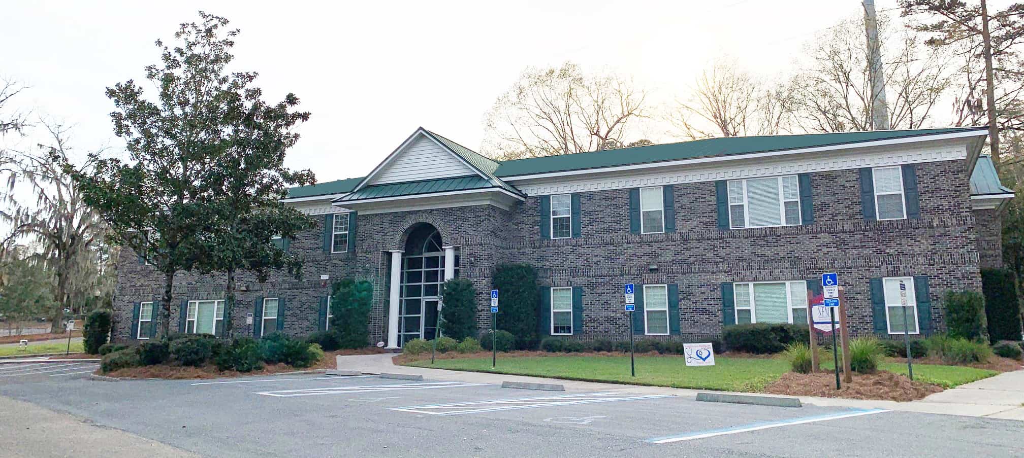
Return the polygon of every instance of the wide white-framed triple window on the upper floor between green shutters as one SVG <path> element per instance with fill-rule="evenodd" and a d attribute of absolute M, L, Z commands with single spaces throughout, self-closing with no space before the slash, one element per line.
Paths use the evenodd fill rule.
<path fill-rule="evenodd" d="M 731 180 L 729 227 L 799 226 L 800 180 L 796 175 Z"/>

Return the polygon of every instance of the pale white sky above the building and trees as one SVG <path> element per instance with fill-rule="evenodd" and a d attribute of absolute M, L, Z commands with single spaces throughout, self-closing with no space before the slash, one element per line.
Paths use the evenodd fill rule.
<path fill-rule="evenodd" d="M 154 41 L 200 9 L 241 29 L 234 65 L 268 100 L 293 92 L 312 113 L 286 165 L 321 182 L 368 174 L 421 126 L 478 149 L 483 114 L 527 66 L 570 60 L 671 101 L 717 56 L 783 75 L 816 33 L 863 13 L 857 0 L 8 1 L 0 77 L 28 86 L 18 108 L 73 126 L 77 151 L 116 153 L 104 88 L 142 80 Z"/>

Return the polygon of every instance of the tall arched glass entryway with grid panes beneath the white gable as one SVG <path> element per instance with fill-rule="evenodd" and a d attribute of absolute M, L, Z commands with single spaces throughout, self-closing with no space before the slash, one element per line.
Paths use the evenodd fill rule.
<path fill-rule="evenodd" d="M 401 256 L 398 345 L 414 338 L 431 339 L 437 333 L 437 303 L 445 279 L 445 248 L 437 228 L 419 223 L 410 229 Z M 451 255 L 450 255 L 451 256 Z M 459 275 L 459 257 L 454 259 L 454 276 Z"/>

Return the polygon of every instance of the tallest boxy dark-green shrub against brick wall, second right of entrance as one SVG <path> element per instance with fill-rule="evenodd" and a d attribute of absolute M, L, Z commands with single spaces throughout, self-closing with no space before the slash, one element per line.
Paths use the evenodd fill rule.
<path fill-rule="evenodd" d="M 501 291 L 502 313 L 497 327 L 515 336 L 518 350 L 534 349 L 538 341 L 540 296 L 537 270 L 529 264 L 501 264 L 495 267 L 495 289 Z"/>

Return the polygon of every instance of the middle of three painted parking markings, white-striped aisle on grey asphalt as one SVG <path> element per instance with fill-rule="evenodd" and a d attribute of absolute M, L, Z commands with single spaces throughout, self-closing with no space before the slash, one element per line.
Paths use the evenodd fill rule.
<path fill-rule="evenodd" d="M 637 395 L 632 393 L 588 393 L 581 395 L 546 396 L 540 398 L 501 399 L 427 406 L 398 407 L 391 410 L 424 413 L 429 415 L 464 415 L 468 413 L 497 412 L 502 410 L 534 409 L 538 407 L 570 406 L 575 404 L 639 401 L 644 399 L 672 398 L 668 395 Z"/>

